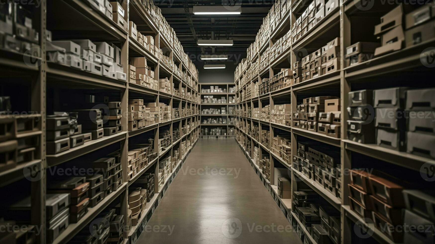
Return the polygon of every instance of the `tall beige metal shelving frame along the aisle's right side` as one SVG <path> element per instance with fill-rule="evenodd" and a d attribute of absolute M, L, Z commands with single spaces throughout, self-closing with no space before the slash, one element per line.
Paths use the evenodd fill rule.
<path fill-rule="evenodd" d="M 362 144 L 358 142 L 354 142 L 348 139 L 347 136 L 347 123 L 346 121 L 349 119 L 348 112 L 346 108 L 348 106 L 348 92 L 354 90 L 361 89 L 373 89 L 371 86 L 375 85 L 375 87 L 379 88 L 388 88 L 395 86 L 407 86 L 407 85 L 379 85 L 381 83 L 382 78 L 387 78 L 388 76 L 396 77 L 400 79 L 400 75 L 406 72 L 411 72 L 413 69 L 416 72 L 421 72 L 425 67 L 420 60 L 420 56 L 422 51 L 429 48 L 434 47 L 435 39 L 430 39 L 428 41 L 422 41 L 419 44 L 413 45 L 411 47 L 402 48 L 400 51 L 391 52 L 389 54 L 385 54 L 379 57 L 375 57 L 369 61 L 362 62 L 360 64 L 354 64 L 352 66 L 346 67 L 344 58 L 341 58 L 341 67 L 338 71 L 334 71 L 328 73 L 326 75 L 321 75 L 316 78 L 311 78 L 307 81 L 303 81 L 297 84 L 292 84 L 286 88 L 282 88 L 277 91 L 272 91 L 263 95 L 259 95 L 256 97 L 243 98 L 242 94 L 247 90 L 247 87 L 251 85 L 251 83 L 256 83 L 261 81 L 262 78 L 271 78 L 277 74 L 278 67 L 279 68 L 290 68 L 290 64 L 293 64 L 295 61 L 299 61 L 301 58 L 301 53 L 306 56 L 310 54 L 312 51 L 317 50 L 320 47 L 317 47 L 318 44 L 316 42 L 321 41 L 330 41 L 329 39 L 333 39 L 331 37 L 331 33 L 339 33 L 339 41 L 340 41 L 340 53 L 345 53 L 345 48 L 349 47 L 351 44 L 354 44 L 356 41 L 352 40 L 354 43 L 351 43 L 351 33 L 352 29 L 355 28 L 352 23 L 351 16 L 355 14 L 361 14 L 361 10 L 356 7 L 356 4 L 359 4 L 360 1 L 354 0 L 341 0 L 339 1 L 340 6 L 329 13 L 325 18 L 323 18 L 320 22 L 316 23 L 311 30 L 308 30 L 306 34 L 304 34 L 301 38 L 298 39 L 295 43 L 291 44 L 289 50 L 282 50 L 281 54 L 276 56 L 273 60 L 268 60 L 268 64 L 264 68 L 260 68 L 254 72 L 253 78 L 248 79 L 246 82 L 245 76 L 248 75 L 249 69 L 252 67 L 253 63 L 257 59 L 261 59 L 261 54 L 266 50 L 267 47 L 272 47 L 274 39 L 279 38 L 282 32 L 287 32 L 288 26 L 293 24 L 297 17 L 301 15 L 301 13 L 308 7 L 310 0 L 295 0 L 292 1 L 291 10 L 289 16 L 287 14 L 283 15 L 283 20 L 281 20 L 275 27 L 274 30 L 270 30 L 269 41 L 266 41 L 264 45 L 258 47 L 258 54 L 254 54 L 254 57 L 251 60 L 247 60 L 248 64 L 245 64 L 245 69 L 239 71 L 238 75 L 235 75 L 234 82 L 238 87 L 237 95 L 238 103 L 238 114 L 236 116 L 236 135 L 241 137 L 241 141 L 244 141 L 244 144 L 238 141 L 238 145 L 241 147 L 242 151 L 246 154 L 248 161 L 252 164 L 252 159 L 249 155 L 253 155 L 254 144 L 259 145 L 259 148 L 263 148 L 264 153 L 270 154 L 270 159 L 274 158 L 274 164 L 280 163 L 282 166 L 291 170 L 293 173 L 291 174 L 292 181 L 292 191 L 297 190 L 297 182 L 304 182 L 308 186 L 310 186 L 313 190 L 315 190 L 321 197 L 323 197 L 331 206 L 341 211 L 341 243 L 347 244 L 352 242 L 352 226 L 355 223 L 361 222 L 361 217 L 352 211 L 349 207 L 348 197 L 349 190 L 347 185 L 350 182 L 350 176 L 344 175 L 341 178 L 342 193 L 341 198 L 336 197 L 331 194 L 327 190 L 325 190 L 321 185 L 315 182 L 312 179 L 308 179 L 303 173 L 293 169 L 291 165 L 287 164 L 283 159 L 281 159 L 277 154 L 271 152 L 261 142 L 258 142 L 256 139 L 252 138 L 247 131 L 246 125 L 252 125 L 258 123 L 259 125 L 270 126 L 271 130 L 271 138 L 274 136 L 272 130 L 274 128 L 287 130 L 291 132 L 291 142 L 292 142 L 292 155 L 296 155 L 298 138 L 308 138 L 311 140 L 315 140 L 318 142 L 323 142 L 325 144 L 335 146 L 337 148 L 337 152 L 341 153 L 341 172 L 344 172 L 345 169 L 352 169 L 352 154 L 357 156 L 364 155 L 376 160 L 382 160 L 385 165 L 391 164 L 394 166 L 402 167 L 403 170 L 411 169 L 414 173 L 420 173 L 422 170 L 422 165 L 426 162 L 429 162 L 433 159 L 424 156 L 418 156 L 406 152 L 398 152 L 395 150 L 387 149 L 385 147 L 378 146 L 376 144 Z M 385 6 L 384 6 L 385 7 Z M 394 6 L 391 6 L 391 9 Z M 372 10 L 376 12 L 375 9 Z M 385 10 L 383 10 L 385 11 Z M 364 13 L 368 14 L 368 13 Z M 386 14 L 386 12 L 385 12 Z M 380 16 L 381 14 L 378 13 Z M 287 21 L 287 24 L 283 24 L 282 21 Z M 282 26 L 287 26 L 285 30 L 282 30 Z M 356 24 L 358 26 L 358 24 Z M 359 27 L 359 26 L 358 26 Z M 358 29 L 357 27 L 357 29 Z M 355 29 L 354 29 L 355 32 Z M 352 37 L 354 38 L 354 37 Z M 323 44 L 325 45 L 325 44 Z M 323 46 L 322 45 L 322 46 Z M 299 55 L 299 56 L 298 56 Z M 251 62 L 250 62 L 251 61 Z M 288 61 L 288 63 L 285 63 Z M 285 65 L 286 67 L 284 67 Z M 430 71 L 428 71 L 430 72 Z M 412 72 L 411 72 L 412 73 Z M 433 71 L 432 71 L 433 74 Z M 432 76 L 430 76 L 432 77 Z M 257 79 L 258 78 L 258 79 Z M 412 79 L 412 78 L 410 78 Z M 377 85 L 377 86 L 376 86 Z M 427 87 L 425 85 L 424 87 Z M 357 87 L 357 88 L 355 88 Z M 326 136 L 320 134 L 318 132 L 311 132 L 305 129 L 292 128 L 291 126 L 279 125 L 271 122 L 264 122 L 261 119 L 253 119 L 251 115 L 248 115 L 248 107 L 253 108 L 254 103 L 261 108 L 261 100 L 267 101 L 271 106 L 274 105 L 275 97 L 278 95 L 287 95 L 288 103 L 291 103 L 292 111 L 296 111 L 297 102 L 301 102 L 301 98 L 307 98 L 311 96 L 319 96 L 319 95 L 327 95 L 332 91 L 336 96 L 339 96 L 341 99 L 341 136 L 340 138 L 333 138 L 330 136 Z M 291 118 L 291 125 L 293 125 L 293 118 Z M 267 128 L 267 127 L 266 127 Z M 261 131 L 260 131 L 261 133 Z M 238 138 L 236 136 L 236 138 Z M 261 134 L 260 134 L 261 138 Z M 247 152 L 247 144 L 248 141 L 251 142 L 251 152 Z M 274 165 L 271 162 L 271 179 L 273 178 Z M 282 167 L 280 166 L 280 167 Z M 354 166 L 355 167 L 355 166 Z M 257 172 L 258 168 L 254 167 L 254 170 Z M 260 179 L 263 180 L 264 176 L 259 175 Z M 271 185 L 266 188 L 270 189 L 273 186 L 273 182 Z M 273 190 L 273 187 L 272 187 Z M 292 193 L 293 195 L 293 193 Z M 291 211 L 291 208 L 287 213 L 284 213 L 287 217 L 291 216 L 291 219 L 295 219 L 298 222 L 298 225 L 303 226 L 301 221 L 298 219 L 298 214 L 294 214 Z M 289 218 L 288 218 L 289 219 Z M 290 221 L 290 220 L 289 220 Z M 363 224 L 366 229 L 373 230 L 373 239 L 381 244 L 393 244 L 386 234 L 382 233 L 378 230 L 372 223 L 359 223 Z M 301 228 L 303 234 L 309 237 L 309 241 L 311 243 L 316 244 L 316 242 L 311 237 L 309 231 L 305 228 Z"/>

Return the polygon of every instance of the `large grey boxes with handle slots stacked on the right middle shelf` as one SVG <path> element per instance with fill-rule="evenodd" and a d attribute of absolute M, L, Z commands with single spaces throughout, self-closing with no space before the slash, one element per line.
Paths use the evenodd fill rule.
<path fill-rule="evenodd" d="M 435 138 L 434 91 L 396 87 L 349 92 L 348 139 L 434 158 L 429 146 Z"/>

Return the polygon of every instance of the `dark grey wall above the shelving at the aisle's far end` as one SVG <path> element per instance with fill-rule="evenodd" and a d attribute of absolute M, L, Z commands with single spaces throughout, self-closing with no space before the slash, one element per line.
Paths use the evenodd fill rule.
<path fill-rule="evenodd" d="M 234 82 L 234 71 L 237 64 L 234 62 L 219 62 L 213 64 L 225 64 L 224 69 L 204 69 L 204 62 L 195 62 L 199 71 L 200 83 Z"/>

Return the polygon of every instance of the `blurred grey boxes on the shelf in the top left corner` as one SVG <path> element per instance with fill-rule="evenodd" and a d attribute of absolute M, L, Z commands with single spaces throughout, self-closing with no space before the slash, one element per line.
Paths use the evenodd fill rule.
<path fill-rule="evenodd" d="M 19 3 L 6 2 L 0 7 L 0 47 L 41 58 L 39 33 L 33 29 L 33 13 Z"/>

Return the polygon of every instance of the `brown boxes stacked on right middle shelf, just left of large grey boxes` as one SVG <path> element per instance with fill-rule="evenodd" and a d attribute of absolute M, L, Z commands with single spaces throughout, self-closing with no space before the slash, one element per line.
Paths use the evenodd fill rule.
<path fill-rule="evenodd" d="M 340 138 L 340 98 L 320 96 L 304 98 L 293 113 L 293 127 Z"/>

